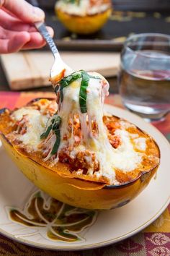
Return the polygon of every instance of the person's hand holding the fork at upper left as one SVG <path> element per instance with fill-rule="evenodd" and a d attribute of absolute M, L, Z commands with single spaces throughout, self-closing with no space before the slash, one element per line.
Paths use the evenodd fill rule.
<path fill-rule="evenodd" d="M 45 46 L 33 24 L 44 19 L 45 13 L 40 8 L 24 0 L 0 0 L 0 54 Z M 47 29 L 53 37 L 53 29 Z"/>

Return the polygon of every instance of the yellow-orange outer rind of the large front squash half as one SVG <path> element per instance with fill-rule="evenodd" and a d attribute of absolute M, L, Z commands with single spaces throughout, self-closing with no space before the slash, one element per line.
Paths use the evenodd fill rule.
<path fill-rule="evenodd" d="M 0 138 L 14 163 L 35 186 L 51 197 L 79 208 L 109 210 L 125 205 L 148 185 L 158 168 L 156 166 L 143 174 L 143 179 L 139 176 L 129 184 L 103 188 L 98 186 L 97 188 L 94 182 L 61 177 L 56 172 L 41 166 L 40 163 L 19 154 L 4 135 L 0 134 Z"/>

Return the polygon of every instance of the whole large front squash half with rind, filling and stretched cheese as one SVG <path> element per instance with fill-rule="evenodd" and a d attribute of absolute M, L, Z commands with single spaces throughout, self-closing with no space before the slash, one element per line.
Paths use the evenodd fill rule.
<path fill-rule="evenodd" d="M 107 80 L 74 72 L 55 99 L 1 110 L 1 141 L 21 171 L 50 196 L 81 208 L 130 202 L 155 174 L 160 153 L 151 136 L 103 112 Z"/>

